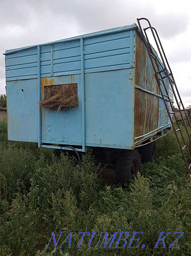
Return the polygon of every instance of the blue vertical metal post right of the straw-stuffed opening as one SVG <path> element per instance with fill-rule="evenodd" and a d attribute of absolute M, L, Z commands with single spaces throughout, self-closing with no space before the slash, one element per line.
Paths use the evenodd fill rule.
<path fill-rule="evenodd" d="M 82 151 L 86 150 L 85 88 L 84 88 L 84 38 L 80 38 L 82 85 Z"/>

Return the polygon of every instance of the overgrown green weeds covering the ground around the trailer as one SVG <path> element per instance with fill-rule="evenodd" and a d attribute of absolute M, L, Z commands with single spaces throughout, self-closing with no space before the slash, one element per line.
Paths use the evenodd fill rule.
<path fill-rule="evenodd" d="M 173 132 L 157 141 L 156 162 L 142 164 L 137 179 L 126 187 L 105 184 L 91 153 L 79 165 L 64 155 L 56 161 L 51 149 L 7 141 L 3 122 L 0 151 L 1 256 L 191 255 L 191 189 Z M 58 249 L 66 237 L 56 249 L 52 240 L 44 249 L 52 231 L 56 241 L 61 231 L 72 232 L 71 249 L 68 243 Z M 96 232 L 92 248 L 90 237 L 84 236 L 76 249 L 82 231 Z M 116 231 L 128 232 L 127 245 L 120 241 L 121 249 L 96 246 L 100 232 L 106 231 L 109 238 Z M 132 243 L 139 248 L 127 249 L 133 232 L 144 235 Z M 172 233 L 165 238 L 166 248 L 160 241 L 153 249 L 160 232 Z M 184 234 L 172 246 L 178 248 L 168 249 L 178 237 L 175 232 Z"/>

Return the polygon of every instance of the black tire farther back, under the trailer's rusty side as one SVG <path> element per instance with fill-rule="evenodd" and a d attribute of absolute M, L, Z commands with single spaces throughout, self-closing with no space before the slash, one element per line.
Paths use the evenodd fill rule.
<path fill-rule="evenodd" d="M 156 141 L 142 147 L 142 162 L 153 162 L 156 160 Z"/>

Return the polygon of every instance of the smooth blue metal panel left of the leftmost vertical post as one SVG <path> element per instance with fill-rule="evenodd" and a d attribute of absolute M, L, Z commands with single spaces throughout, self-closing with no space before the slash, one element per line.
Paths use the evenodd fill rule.
<path fill-rule="evenodd" d="M 38 141 L 37 79 L 7 81 L 8 139 Z"/>

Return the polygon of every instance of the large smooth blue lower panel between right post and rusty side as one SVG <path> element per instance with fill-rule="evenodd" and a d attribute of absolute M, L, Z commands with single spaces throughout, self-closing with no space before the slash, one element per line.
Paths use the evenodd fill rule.
<path fill-rule="evenodd" d="M 87 73 L 86 142 L 133 146 L 133 69 Z"/>

